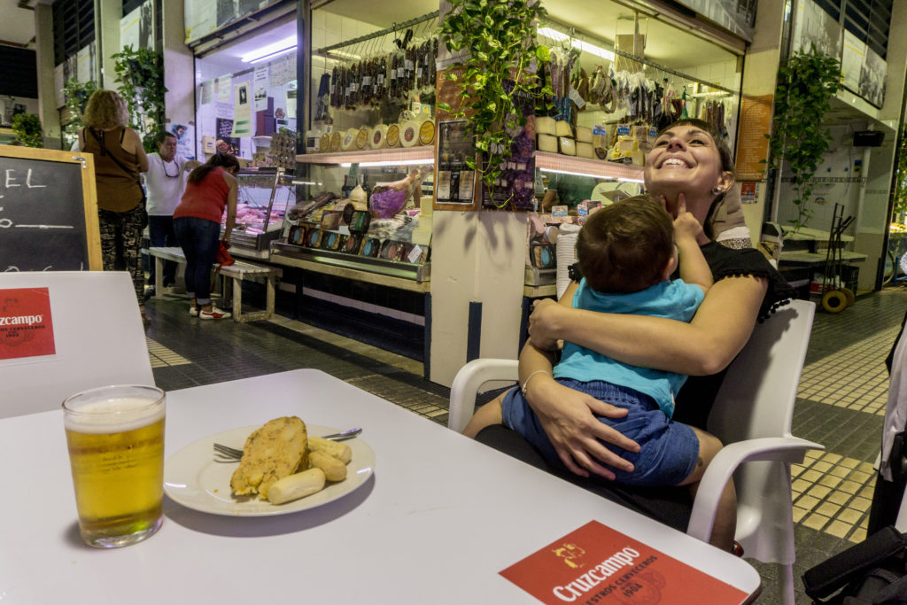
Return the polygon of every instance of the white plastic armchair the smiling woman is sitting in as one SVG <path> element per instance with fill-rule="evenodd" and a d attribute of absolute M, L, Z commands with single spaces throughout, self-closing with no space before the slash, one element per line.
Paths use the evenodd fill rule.
<path fill-rule="evenodd" d="M 790 465 L 803 462 L 807 450 L 824 449 L 791 434 L 814 315 L 815 304 L 804 300 L 781 307 L 756 326 L 728 368 L 707 427 L 725 447 L 699 484 L 687 529 L 689 535 L 708 540 L 718 497 L 733 474 L 736 541 L 747 557 L 779 564 L 784 603 L 795 602 Z M 478 389 L 490 380 L 517 380 L 517 362 L 475 359 L 463 366 L 451 386 L 449 428 L 463 430 L 473 415 Z"/>

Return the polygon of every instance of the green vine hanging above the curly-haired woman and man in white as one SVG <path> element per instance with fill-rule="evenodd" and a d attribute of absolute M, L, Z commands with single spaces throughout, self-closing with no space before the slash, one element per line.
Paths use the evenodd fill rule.
<path fill-rule="evenodd" d="M 163 57 L 150 48 L 133 51 L 131 45 L 126 45 L 112 58 L 120 83 L 117 92 L 129 105 L 130 125 L 143 135 L 145 151 L 157 151 L 153 135 L 164 123 L 164 93 L 167 92 Z"/>

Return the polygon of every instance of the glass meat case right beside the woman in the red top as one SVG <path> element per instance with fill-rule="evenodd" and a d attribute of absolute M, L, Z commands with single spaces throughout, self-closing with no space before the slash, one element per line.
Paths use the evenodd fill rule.
<path fill-rule="evenodd" d="M 230 242 L 240 249 L 268 250 L 280 237 L 288 208 L 296 203 L 292 172 L 282 168 L 243 168 L 237 175 L 239 199 Z"/>

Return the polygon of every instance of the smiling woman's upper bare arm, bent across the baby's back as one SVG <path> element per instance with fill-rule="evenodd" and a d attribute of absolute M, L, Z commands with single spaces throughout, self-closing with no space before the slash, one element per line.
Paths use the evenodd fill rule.
<path fill-rule="evenodd" d="M 673 319 L 597 313 L 542 300 L 529 317 L 532 342 L 569 340 L 630 366 L 689 376 L 715 374 L 746 345 L 768 282 L 753 276 L 717 281 L 685 324 Z"/>

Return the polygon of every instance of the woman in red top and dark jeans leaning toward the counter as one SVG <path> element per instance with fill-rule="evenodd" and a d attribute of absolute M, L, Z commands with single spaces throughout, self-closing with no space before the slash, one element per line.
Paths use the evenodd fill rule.
<path fill-rule="evenodd" d="M 227 153 L 216 153 L 189 173 L 186 192 L 173 211 L 173 230 L 186 255 L 186 293 L 191 298 L 189 314 L 201 319 L 225 319 L 226 311 L 211 304 L 211 265 L 218 252 L 220 219 L 227 210 L 223 242 L 236 223 L 239 161 Z"/>

